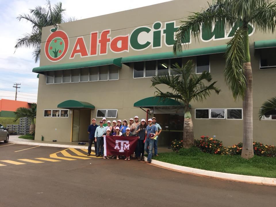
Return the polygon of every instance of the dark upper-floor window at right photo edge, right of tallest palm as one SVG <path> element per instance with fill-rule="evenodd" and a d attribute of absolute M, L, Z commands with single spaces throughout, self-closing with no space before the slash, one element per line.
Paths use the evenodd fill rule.
<path fill-rule="evenodd" d="M 261 68 L 263 67 L 262 69 L 276 68 L 275 53 L 275 47 L 261 49 Z"/>

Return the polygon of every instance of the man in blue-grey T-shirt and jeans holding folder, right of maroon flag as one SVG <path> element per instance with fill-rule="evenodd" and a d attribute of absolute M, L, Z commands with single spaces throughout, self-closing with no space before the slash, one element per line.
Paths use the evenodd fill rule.
<path fill-rule="evenodd" d="M 156 126 L 152 125 L 152 119 L 148 119 L 147 122 L 149 125 L 147 125 L 146 128 L 146 135 L 147 139 L 145 141 L 145 151 L 148 154 L 147 161 L 145 163 L 151 163 L 152 162 L 152 149 L 154 147 L 154 137 L 157 134 Z M 147 148 L 149 147 L 149 148 Z"/>

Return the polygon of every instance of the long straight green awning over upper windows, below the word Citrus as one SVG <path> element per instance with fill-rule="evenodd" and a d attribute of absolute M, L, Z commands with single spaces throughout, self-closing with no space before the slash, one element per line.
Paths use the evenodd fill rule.
<path fill-rule="evenodd" d="M 129 62 L 139 62 L 139 61 L 147 61 L 147 60 L 161 60 L 161 59 L 169 59 L 175 57 L 189 57 L 189 56 L 196 56 L 196 55 L 208 55 L 208 54 L 215 54 L 215 53 L 224 53 L 226 51 L 227 45 L 220 45 L 215 47 L 204 47 L 204 48 L 197 48 L 197 49 L 186 49 L 183 50 L 182 53 L 178 53 L 176 56 L 173 52 L 165 52 L 165 53 L 154 53 L 148 55 L 136 55 L 136 56 L 129 56 L 123 57 L 122 63 L 129 63 Z"/>

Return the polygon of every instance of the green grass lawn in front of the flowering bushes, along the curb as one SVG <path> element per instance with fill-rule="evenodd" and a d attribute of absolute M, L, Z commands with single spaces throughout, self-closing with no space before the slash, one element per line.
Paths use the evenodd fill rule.
<path fill-rule="evenodd" d="M 254 156 L 250 160 L 241 156 L 215 155 L 201 152 L 198 148 L 181 149 L 177 152 L 158 153 L 154 160 L 186 167 L 223 173 L 276 178 L 276 158 Z"/>

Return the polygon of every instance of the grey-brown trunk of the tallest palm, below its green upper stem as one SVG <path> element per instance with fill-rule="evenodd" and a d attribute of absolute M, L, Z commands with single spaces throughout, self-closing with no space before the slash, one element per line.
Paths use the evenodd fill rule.
<path fill-rule="evenodd" d="M 246 78 L 246 94 L 243 100 L 243 145 L 241 157 L 250 159 L 254 156 L 253 151 L 253 91 L 252 91 L 252 68 L 251 63 L 243 65 Z"/>

